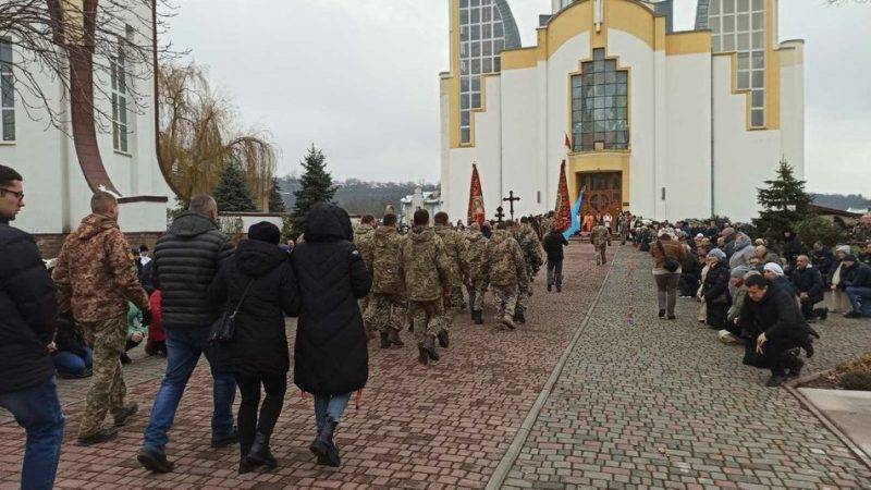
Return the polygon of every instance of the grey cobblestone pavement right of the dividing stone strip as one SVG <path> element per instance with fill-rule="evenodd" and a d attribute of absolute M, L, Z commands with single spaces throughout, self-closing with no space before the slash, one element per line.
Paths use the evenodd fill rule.
<path fill-rule="evenodd" d="M 507 488 L 871 488 L 871 471 L 768 372 L 743 366 L 679 299 L 657 319 L 646 254 L 622 248 Z M 868 352 L 871 322 L 830 318 L 810 370 Z"/>

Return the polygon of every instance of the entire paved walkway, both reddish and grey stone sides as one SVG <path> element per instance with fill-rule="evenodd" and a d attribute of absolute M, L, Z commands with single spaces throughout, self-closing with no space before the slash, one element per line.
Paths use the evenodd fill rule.
<path fill-rule="evenodd" d="M 162 359 L 125 369 L 142 415 L 102 446 L 74 445 L 84 388 L 62 381 L 69 404 L 58 486 L 482 488 L 504 477 L 505 487 L 531 488 L 871 487 L 871 471 L 789 393 L 764 388 L 765 372 L 741 366 L 737 347 L 697 326 L 696 303 L 680 302 L 678 321 L 654 318 L 646 255 L 619 248 L 590 311 L 609 270 L 592 260 L 589 245 L 573 243 L 566 291 L 548 294 L 537 281 L 529 324 L 516 332 L 458 317 L 452 346 L 434 366 L 416 364 L 412 342 L 372 348 L 363 405 L 340 427 L 339 469 L 315 465 L 311 401 L 291 390 L 273 437 L 281 467 L 237 477 L 235 449 L 208 446 L 211 382 L 200 365 L 171 433 L 177 469 L 150 475 L 135 454 Z M 506 457 L 588 313 L 529 437 L 517 441 L 519 454 Z M 871 345 L 869 322 L 830 319 L 820 329 L 810 369 Z M 21 429 L 0 421 L 0 489 L 16 488 L 22 443 Z"/>

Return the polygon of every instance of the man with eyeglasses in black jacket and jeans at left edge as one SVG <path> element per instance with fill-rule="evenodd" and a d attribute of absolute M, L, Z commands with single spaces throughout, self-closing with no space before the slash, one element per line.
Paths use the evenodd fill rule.
<path fill-rule="evenodd" d="M 0 166 L 0 406 L 27 431 L 21 487 L 50 489 L 63 442 L 48 347 L 58 307 L 36 242 L 9 225 L 24 208 L 23 180 Z"/>

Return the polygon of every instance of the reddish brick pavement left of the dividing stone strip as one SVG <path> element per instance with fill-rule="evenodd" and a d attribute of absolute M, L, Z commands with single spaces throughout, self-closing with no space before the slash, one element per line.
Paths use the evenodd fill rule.
<path fill-rule="evenodd" d="M 610 253 L 613 253 L 613 248 Z M 565 292 L 535 283 L 528 324 L 494 333 L 488 326 L 457 317 L 450 350 L 440 363 L 416 363 L 412 335 L 403 350 L 370 345 L 369 385 L 359 408 L 348 408 L 338 442 L 344 465 L 326 469 L 308 452 L 314 438 L 311 401 L 289 390 L 273 434 L 280 468 L 236 476 L 236 449 L 211 450 L 211 381 L 204 364 L 195 371 L 171 432 L 169 454 L 177 464 L 170 475 L 150 475 L 135 461 L 142 432 L 159 385 L 162 359 L 150 358 L 125 369 L 130 400 L 140 414 L 119 439 L 78 448 L 74 437 L 83 409 L 85 384 L 61 381 L 69 402 L 66 438 L 58 486 L 65 488 L 284 488 L 382 486 L 391 488 L 481 488 L 493 474 L 518 427 L 565 351 L 599 291 L 606 267 L 597 267 L 592 248 L 573 243 L 566 250 Z M 492 309 L 487 311 L 492 323 Z M 291 323 L 292 327 L 292 323 Z M 0 425 L 0 488 L 16 488 L 23 431 Z"/>

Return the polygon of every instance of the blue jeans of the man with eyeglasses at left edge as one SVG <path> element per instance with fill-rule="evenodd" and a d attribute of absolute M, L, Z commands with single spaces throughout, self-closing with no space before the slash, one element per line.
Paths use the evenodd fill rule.
<path fill-rule="evenodd" d="M 27 431 L 21 488 L 50 490 L 54 486 L 63 443 L 63 413 L 54 377 L 37 387 L 0 393 L 0 406 L 11 412 Z"/>

